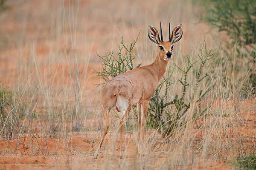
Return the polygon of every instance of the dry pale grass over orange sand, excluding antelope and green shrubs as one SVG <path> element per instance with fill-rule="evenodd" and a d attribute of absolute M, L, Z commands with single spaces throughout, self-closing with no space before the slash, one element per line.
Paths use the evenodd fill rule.
<path fill-rule="evenodd" d="M 5 112 L 19 115 L 20 125 L 12 119 L 1 124 L 0 130 L 11 125 L 13 133 L 0 136 L 0 168 L 231 169 L 235 156 L 255 149 L 256 100 L 241 95 L 247 61 L 226 58 L 219 48 L 225 36 L 199 23 L 201 8 L 191 1 L 9 0 L 8 4 L 11 8 L 0 15 L 0 81 L 13 94 L 13 105 Z M 100 69 L 96 52 L 107 54 L 121 36 L 129 43 L 141 30 L 136 64 L 148 64 L 157 48 L 148 40 L 147 26 L 158 28 L 160 20 L 164 39 L 169 22 L 172 27 L 183 24 L 183 38 L 175 46 L 170 65 L 183 67 L 185 54 L 197 59 L 203 40 L 208 48 L 219 51 L 222 65 L 207 64 L 212 91 L 203 105 L 212 105 L 208 116 L 198 122 L 202 125 L 198 129 L 189 119 L 196 109 L 192 103 L 183 133 L 165 144 L 160 134 L 149 129 L 144 155 L 139 157 L 135 155 L 136 122 L 132 121 L 122 160 L 116 150 L 117 119 L 113 116 L 100 158 L 93 159 L 102 131 L 101 88 L 96 84 L 103 80 L 91 68 Z M 236 62 L 241 63 L 240 71 L 234 71 Z M 173 74 L 171 98 L 182 93 L 180 76 Z M 189 79 L 193 81 L 194 76 L 191 72 Z"/>

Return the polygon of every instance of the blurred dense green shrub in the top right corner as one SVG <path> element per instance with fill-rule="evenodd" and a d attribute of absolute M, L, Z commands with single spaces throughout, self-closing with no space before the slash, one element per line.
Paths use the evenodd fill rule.
<path fill-rule="evenodd" d="M 213 8 L 207 8 L 207 23 L 226 31 L 233 44 L 256 43 L 256 0 L 209 0 Z"/>

